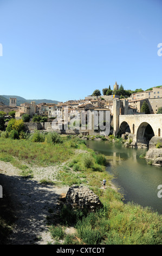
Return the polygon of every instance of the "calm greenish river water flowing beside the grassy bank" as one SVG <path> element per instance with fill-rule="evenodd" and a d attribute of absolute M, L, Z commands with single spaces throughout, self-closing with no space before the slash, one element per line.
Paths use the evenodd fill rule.
<path fill-rule="evenodd" d="M 112 183 L 124 194 L 125 202 L 150 206 L 162 214 L 162 198 L 158 197 L 158 185 L 162 184 L 162 167 L 151 166 L 140 155 L 146 149 L 125 148 L 124 144 L 107 141 L 86 141 L 87 147 L 111 156 L 106 168 L 113 175 Z"/>

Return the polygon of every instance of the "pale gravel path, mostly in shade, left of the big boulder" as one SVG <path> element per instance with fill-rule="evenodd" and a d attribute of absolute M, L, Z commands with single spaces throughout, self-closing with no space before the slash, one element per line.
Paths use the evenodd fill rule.
<path fill-rule="evenodd" d="M 0 161 L 0 184 L 15 215 L 8 245 L 47 245 L 53 242 L 47 227 L 48 210 L 58 208 L 60 195 L 67 193 L 69 187 L 42 185 L 39 181 L 42 178 L 54 181 L 58 168 L 34 167 L 34 178 L 27 179 L 20 176 L 20 170 L 12 164 Z"/>

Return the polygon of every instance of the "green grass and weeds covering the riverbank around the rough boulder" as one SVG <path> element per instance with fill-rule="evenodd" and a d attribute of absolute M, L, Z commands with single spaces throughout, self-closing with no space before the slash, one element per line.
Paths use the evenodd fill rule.
<path fill-rule="evenodd" d="M 49 229 L 55 243 L 61 239 L 66 244 L 162 244 L 162 216 L 122 201 L 122 196 L 111 188 L 112 176 L 105 170 L 107 161 L 103 155 L 94 153 L 76 137 L 59 137 L 59 141 L 50 142 L 45 137 L 42 142 L 1 137 L 0 160 L 10 162 L 20 169 L 20 175 L 30 179 L 35 176 L 34 166 L 57 165 L 59 186 L 87 185 L 99 196 L 103 207 L 93 214 L 68 209 L 64 204 L 59 215 L 49 209 Z M 103 178 L 107 180 L 106 190 L 102 189 Z M 42 184 L 48 182 L 52 184 L 53 180 L 44 179 Z M 1 223 L 4 230 L 2 218 Z M 65 228 L 72 225 L 76 234 L 66 235 Z"/>

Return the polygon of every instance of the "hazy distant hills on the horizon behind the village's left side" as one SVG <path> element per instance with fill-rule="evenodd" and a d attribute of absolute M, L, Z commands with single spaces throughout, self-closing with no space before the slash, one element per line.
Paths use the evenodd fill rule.
<path fill-rule="evenodd" d="M 1 100 L 1 97 L 4 99 L 4 100 L 7 100 L 7 104 L 5 105 L 9 105 L 10 101 L 10 97 L 14 97 L 17 99 L 17 106 L 20 106 L 20 104 L 22 103 L 25 103 L 25 102 L 28 102 L 28 103 L 31 103 L 31 101 L 35 101 L 36 104 L 39 104 L 39 103 L 42 103 L 42 102 L 45 102 L 45 103 L 54 103 L 54 104 L 57 104 L 59 101 L 57 100 L 47 100 L 47 99 L 43 99 L 43 100 L 26 100 L 24 99 L 23 97 L 20 97 L 20 96 L 17 96 L 17 95 L 2 95 L 0 96 L 0 101 Z M 4 101 L 2 101 L 4 103 Z"/>

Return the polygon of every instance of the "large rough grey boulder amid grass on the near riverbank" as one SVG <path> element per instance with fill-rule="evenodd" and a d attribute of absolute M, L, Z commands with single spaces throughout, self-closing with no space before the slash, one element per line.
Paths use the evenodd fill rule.
<path fill-rule="evenodd" d="M 73 208 L 88 208 L 95 211 L 102 206 L 99 197 L 86 186 L 72 186 L 66 195 L 66 204 Z"/>

